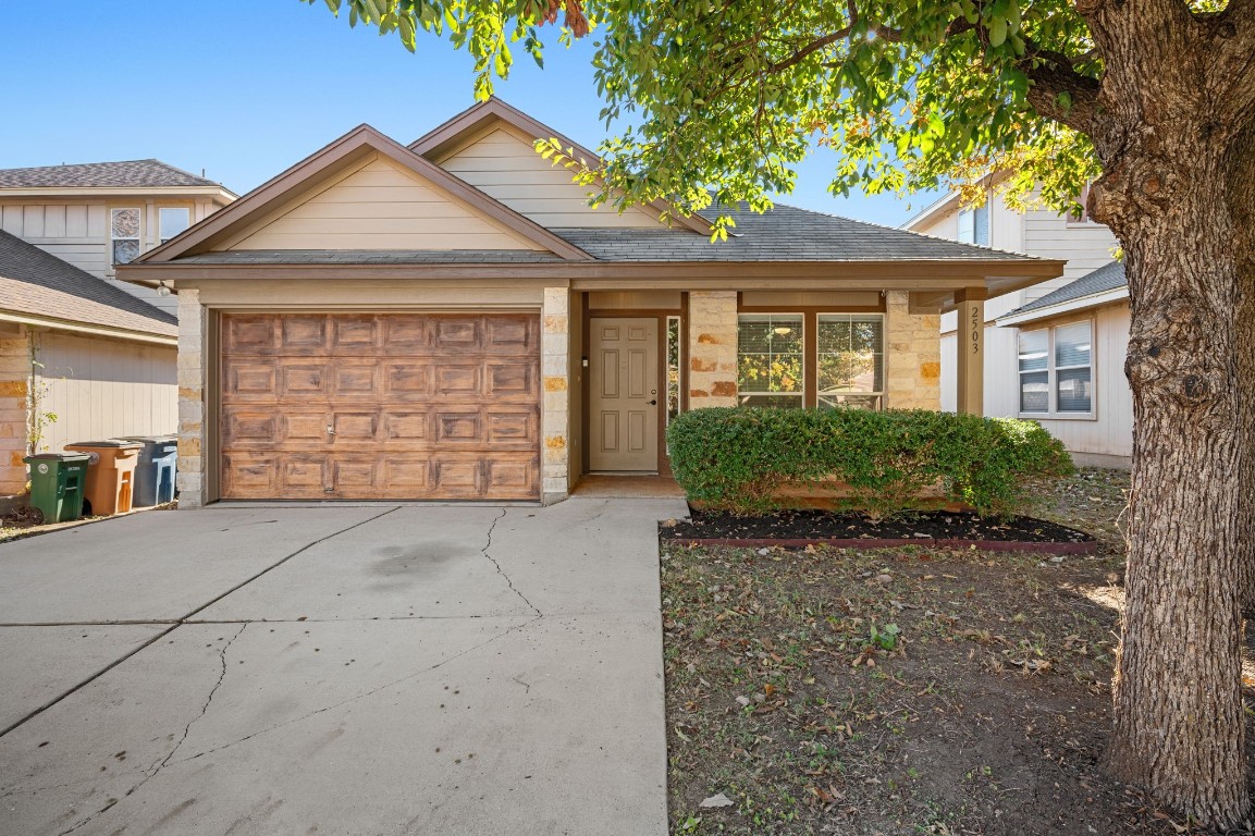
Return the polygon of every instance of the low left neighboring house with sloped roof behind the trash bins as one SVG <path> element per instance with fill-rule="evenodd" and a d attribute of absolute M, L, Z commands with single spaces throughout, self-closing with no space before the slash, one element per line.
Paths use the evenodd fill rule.
<path fill-rule="evenodd" d="M 25 490 L 31 447 L 174 432 L 177 334 L 172 314 L 0 232 L 0 495 Z"/>

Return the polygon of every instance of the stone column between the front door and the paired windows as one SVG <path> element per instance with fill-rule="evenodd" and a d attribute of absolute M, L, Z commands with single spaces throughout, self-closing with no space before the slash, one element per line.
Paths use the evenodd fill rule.
<path fill-rule="evenodd" d="M 689 409 L 737 405 L 737 294 L 689 292 Z"/>

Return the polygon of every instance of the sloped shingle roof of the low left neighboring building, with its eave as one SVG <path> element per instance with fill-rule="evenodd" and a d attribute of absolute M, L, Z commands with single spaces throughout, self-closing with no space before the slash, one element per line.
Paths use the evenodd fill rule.
<path fill-rule="evenodd" d="M 178 334 L 173 315 L 3 231 L 0 310 L 162 336 Z"/>

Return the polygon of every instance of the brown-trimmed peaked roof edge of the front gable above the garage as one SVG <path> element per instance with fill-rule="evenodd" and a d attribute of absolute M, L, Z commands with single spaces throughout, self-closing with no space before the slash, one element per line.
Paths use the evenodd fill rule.
<path fill-rule="evenodd" d="M 186 232 L 149 250 L 137 259 L 136 264 L 164 262 L 207 250 L 213 242 L 221 241 L 233 231 L 264 217 L 300 188 L 312 186 L 321 178 L 343 171 L 371 152 L 409 169 L 456 201 L 469 205 L 484 217 L 563 259 L 587 260 L 590 257 L 535 221 L 492 200 L 439 166 L 379 133 L 369 124 L 361 124 L 277 177 L 266 181 L 236 202 L 218 210 Z"/>

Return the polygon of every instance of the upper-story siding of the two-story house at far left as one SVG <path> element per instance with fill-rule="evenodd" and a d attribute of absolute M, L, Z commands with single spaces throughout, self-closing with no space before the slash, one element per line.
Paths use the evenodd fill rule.
<path fill-rule="evenodd" d="M 109 210 L 139 208 L 141 211 L 141 250 L 147 252 L 158 244 L 159 212 L 162 208 L 182 207 L 191 210 L 193 223 L 205 220 L 213 211 L 213 203 L 207 200 L 153 201 L 142 197 L 110 198 L 95 201 L 45 201 L 45 202 L 6 202 L 0 205 L 0 228 L 15 235 L 28 244 L 67 261 L 79 270 L 90 272 L 115 287 L 125 290 L 137 299 L 171 314 L 177 313 L 178 303 L 173 296 L 158 296 L 149 287 L 141 287 L 114 277 L 109 245 Z"/>

